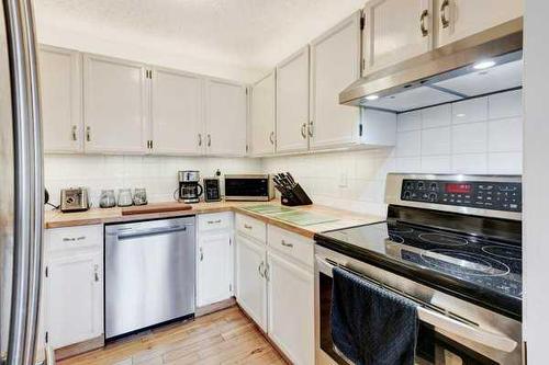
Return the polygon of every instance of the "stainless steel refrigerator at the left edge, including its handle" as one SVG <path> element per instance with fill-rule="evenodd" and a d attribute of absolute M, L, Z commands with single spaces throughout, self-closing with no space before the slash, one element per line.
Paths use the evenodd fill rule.
<path fill-rule="evenodd" d="M 44 215 L 43 148 L 31 0 L 0 8 L 0 350 L 30 365 L 36 351 Z"/>

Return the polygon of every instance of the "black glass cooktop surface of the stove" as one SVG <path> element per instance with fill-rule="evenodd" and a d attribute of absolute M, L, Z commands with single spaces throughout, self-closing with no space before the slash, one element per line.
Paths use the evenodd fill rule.
<path fill-rule="evenodd" d="M 322 233 L 482 289 L 522 298 L 522 249 L 506 242 L 394 221 Z"/>

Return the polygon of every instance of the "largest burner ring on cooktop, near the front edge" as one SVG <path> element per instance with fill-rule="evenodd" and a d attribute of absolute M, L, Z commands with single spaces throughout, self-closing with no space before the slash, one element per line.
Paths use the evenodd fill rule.
<path fill-rule="evenodd" d="M 421 256 L 432 267 L 452 275 L 503 276 L 511 271 L 503 262 L 474 253 L 435 249 L 423 252 Z"/>

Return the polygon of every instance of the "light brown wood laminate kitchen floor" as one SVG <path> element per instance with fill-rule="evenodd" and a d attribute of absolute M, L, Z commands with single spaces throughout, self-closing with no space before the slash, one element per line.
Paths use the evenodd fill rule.
<path fill-rule="evenodd" d="M 59 365 L 287 364 L 238 307 L 168 324 Z"/>

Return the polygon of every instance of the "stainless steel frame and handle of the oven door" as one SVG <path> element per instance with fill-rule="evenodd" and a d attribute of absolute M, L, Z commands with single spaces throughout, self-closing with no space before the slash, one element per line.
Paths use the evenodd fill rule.
<path fill-rule="evenodd" d="M 419 319 L 436 331 L 498 364 L 518 364 L 522 360 L 522 323 L 401 275 L 355 260 L 315 244 L 315 337 L 320 364 L 335 362 L 321 347 L 321 274 L 333 276 L 338 265 L 377 285 L 413 299 L 423 306 Z"/>

